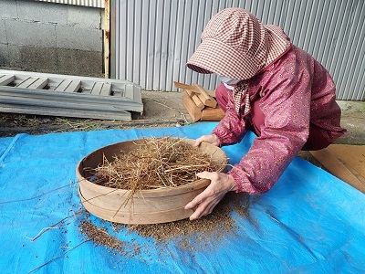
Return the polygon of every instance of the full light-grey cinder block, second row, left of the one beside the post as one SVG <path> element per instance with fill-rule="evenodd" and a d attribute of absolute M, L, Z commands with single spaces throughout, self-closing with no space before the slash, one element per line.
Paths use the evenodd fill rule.
<path fill-rule="evenodd" d="M 10 45 L 56 47 L 56 29 L 52 24 L 29 23 L 7 19 L 7 42 Z"/>

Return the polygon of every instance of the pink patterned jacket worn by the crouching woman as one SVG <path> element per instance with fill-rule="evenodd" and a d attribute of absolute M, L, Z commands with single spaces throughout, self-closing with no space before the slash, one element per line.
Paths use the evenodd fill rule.
<path fill-rule="evenodd" d="M 249 152 L 229 172 L 237 192 L 268 191 L 307 141 L 309 123 L 323 129 L 329 142 L 346 133 L 339 125 L 340 109 L 328 71 L 298 47 L 291 46 L 249 79 L 248 92 L 251 101 L 260 100 L 265 122 Z M 236 114 L 232 91 L 228 98 L 226 115 L 212 132 L 221 145 L 240 142 L 250 123 L 250 115 Z"/>

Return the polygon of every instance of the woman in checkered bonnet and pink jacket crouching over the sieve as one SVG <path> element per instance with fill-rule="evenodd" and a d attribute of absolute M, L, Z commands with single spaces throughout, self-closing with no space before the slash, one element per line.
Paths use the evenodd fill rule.
<path fill-rule="evenodd" d="M 280 27 L 265 26 L 244 9 L 215 15 L 187 66 L 223 81 L 216 98 L 225 117 L 195 145 L 233 144 L 247 131 L 257 135 L 228 174 L 197 174 L 211 184 L 185 206 L 194 209 L 191 220 L 210 214 L 229 191 L 265 193 L 300 150 L 323 149 L 346 133 L 326 68 L 292 45 Z"/>

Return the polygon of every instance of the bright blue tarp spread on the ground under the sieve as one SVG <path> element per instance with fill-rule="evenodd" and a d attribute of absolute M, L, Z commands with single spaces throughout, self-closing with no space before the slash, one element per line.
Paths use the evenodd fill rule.
<path fill-rule="evenodd" d="M 1 273 L 363 273 L 365 195 L 299 158 L 268 193 L 255 197 L 249 218 L 232 213 L 235 233 L 195 251 L 175 238 L 162 250 L 152 237 L 123 229 L 121 240 L 144 247 L 137 256 L 85 242 L 73 216 L 82 208 L 75 184 L 79 160 L 141 137 L 195 139 L 215 124 L 0 138 Z M 248 133 L 224 147 L 230 163 L 239 162 L 254 138 Z"/>

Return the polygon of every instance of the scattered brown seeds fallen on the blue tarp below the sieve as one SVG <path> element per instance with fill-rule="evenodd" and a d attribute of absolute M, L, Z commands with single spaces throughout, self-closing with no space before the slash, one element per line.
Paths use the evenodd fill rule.
<path fill-rule="evenodd" d="M 104 224 L 113 227 L 116 232 L 127 229 L 130 232 L 137 233 L 141 237 L 151 237 L 160 244 L 172 238 L 179 238 L 181 248 L 196 250 L 199 248 L 196 244 L 203 247 L 206 243 L 212 244 L 214 240 L 234 233 L 235 220 L 232 218 L 232 213 L 243 218 L 249 217 L 249 205 L 249 195 L 229 193 L 214 207 L 212 214 L 194 221 L 184 219 L 170 223 L 139 226 L 127 226 L 107 221 Z M 118 250 L 123 255 L 130 255 L 126 253 L 126 249 L 140 250 L 143 248 L 143 246 L 138 246 L 136 242 L 132 244 L 125 243 L 117 237 L 106 234 L 107 230 L 104 227 L 94 226 L 89 220 L 81 222 L 79 230 L 82 234 L 94 241 L 96 245 Z M 192 240 L 195 242 L 194 246 L 190 244 Z M 116 248 L 116 245 L 118 248 Z M 129 247 L 130 245 L 133 247 Z"/>

